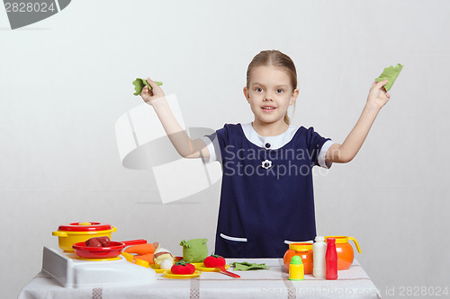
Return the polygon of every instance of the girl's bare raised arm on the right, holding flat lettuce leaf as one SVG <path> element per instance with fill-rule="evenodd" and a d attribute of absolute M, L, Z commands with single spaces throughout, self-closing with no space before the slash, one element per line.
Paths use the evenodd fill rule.
<path fill-rule="evenodd" d="M 369 134 L 370 128 L 374 124 L 374 120 L 378 112 L 389 101 L 391 95 L 386 93 L 383 85 L 388 80 L 374 82 L 370 88 L 365 108 L 361 113 L 355 128 L 348 134 L 342 145 L 334 144 L 329 147 L 325 155 L 325 161 L 333 163 L 348 163 L 355 158 L 359 149 L 365 142 L 365 137 Z"/>

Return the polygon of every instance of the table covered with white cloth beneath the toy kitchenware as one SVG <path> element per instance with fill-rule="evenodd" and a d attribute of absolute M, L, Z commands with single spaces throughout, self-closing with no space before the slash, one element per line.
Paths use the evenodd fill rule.
<path fill-rule="evenodd" d="M 381 298 L 357 260 L 349 269 L 338 271 L 338 280 L 305 275 L 302 281 L 288 279 L 283 259 L 227 259 L 233 261 L 266 263 L 269 268 L 235 271 L 240 278 L 214 272 L 202 272 L 192 279 L 171 279 L 157 274 L 157 281 L 148 285 L 98 288 L 65 288 L 40 272 L 18 298 Z"/>

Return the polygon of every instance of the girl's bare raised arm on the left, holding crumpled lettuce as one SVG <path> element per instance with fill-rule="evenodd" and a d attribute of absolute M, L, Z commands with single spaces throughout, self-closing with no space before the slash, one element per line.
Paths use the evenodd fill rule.
<path fill-rule="evenodd" d="M 166 101 L 166 94 L 161 87 L 149 78 L 147 78 L 147 82 L 151 86 L 151 90 L 148 91 L 148 87 L 145 86 L 140 96 L 157 112 L 157 117 L 178 154 L 184 158 L 208 158 L 210 153 L 202 139 L 192 140 L 176 121 L 174 113 L 170 110 Z"/>

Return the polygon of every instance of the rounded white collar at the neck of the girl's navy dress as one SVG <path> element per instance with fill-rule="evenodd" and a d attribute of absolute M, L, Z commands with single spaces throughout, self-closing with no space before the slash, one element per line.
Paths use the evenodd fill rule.
<path fill-rule="evenodd" d="M 295 132 L 299 129 L 293 125 L 290 125 L 287 130 L 277 136 L 260 136 L 253 128 L 252 123 L 249 122 L 247 124 L 240 124 L 242 130 L 244 131 L 244 135 L 247 137 L 248 141 L 252 144 L 257 145 L 259 147 L 263 147 L 266 149 L 278 149 L 289 143 Z M 268 144 L 268 146 L 266 146 Z"/>

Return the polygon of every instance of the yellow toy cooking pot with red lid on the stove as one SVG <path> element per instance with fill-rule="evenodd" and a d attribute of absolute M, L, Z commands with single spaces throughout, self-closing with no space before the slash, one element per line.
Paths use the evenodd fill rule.
<path fill-rule="evenodd" d="M 111 224 L 99 222 L 76 222 L 59 225 L 58 231 L 52 234 L 58 236 L 59 248 L 66 252 L 75 252 L 72 245 L 77 242 L 85 242 L 94 237 L 109 237 L 117 228 Z"/>

